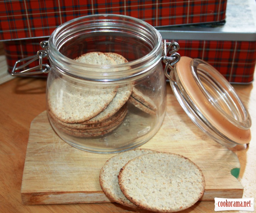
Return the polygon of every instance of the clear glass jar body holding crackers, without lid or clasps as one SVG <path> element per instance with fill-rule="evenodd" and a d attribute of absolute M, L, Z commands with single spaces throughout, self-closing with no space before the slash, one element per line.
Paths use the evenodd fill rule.
<path fill-rule="evenodd" d="M 56 133 L 76 148 L 113 153 L 140 146 L 160 128 L 166 107 L 163 44 L 151 25 L 92 15 L 60 25 L 48 41 L 47 112 Z M 129 62 L 88 64 L 86 53 Z M 94 57 L 94 56 L 92 56 Z"/>

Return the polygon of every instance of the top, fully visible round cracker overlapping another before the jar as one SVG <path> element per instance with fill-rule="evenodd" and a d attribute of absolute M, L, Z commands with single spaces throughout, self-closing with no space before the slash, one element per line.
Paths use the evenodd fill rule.
<path fill-rule="evenodd" d="M 119 172 L 122 193 L 140 208 L 176 212 L 194 205 L 203 195 L 201 169 L 173 153 L 150 153 L 130 160 Z"/>

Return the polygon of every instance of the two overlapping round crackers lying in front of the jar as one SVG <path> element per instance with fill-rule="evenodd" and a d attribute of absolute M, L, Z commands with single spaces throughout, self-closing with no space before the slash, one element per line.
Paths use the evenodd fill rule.
<path fill-rule="evenodd" d="M 150 149 L 133 149 L 106 161 L 99 174 L 106 196 L 119 204 L 155 212 L 177 212 L 203 195 L 201 169 L 188 158 Z"/>

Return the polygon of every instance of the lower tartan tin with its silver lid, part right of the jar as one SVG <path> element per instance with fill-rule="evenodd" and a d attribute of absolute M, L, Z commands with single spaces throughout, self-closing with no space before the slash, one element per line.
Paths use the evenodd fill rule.
<path fill-rule="evenodd" d="M 253 81 L 256 65 L 256 2 L 229 0 L 224 26 L 158 28 L 162 38 L 177 41 L 181 56 L 201 58 L 231 83 Z"/>

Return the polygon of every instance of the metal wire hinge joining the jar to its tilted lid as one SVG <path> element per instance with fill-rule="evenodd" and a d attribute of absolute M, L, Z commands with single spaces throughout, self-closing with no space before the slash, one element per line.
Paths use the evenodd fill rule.
<path fill-rule="evenodd" d="M 181 56 L 179 53 L 177 53 L 179 49 L 180 45 L 177 42 L 166 42 L 166 40 L 163 41 L 163 62 L 165 63 L 164 74 L 171 81 L 174 80 L 169 75 L 168 69 L 172 71 L 174 64 L 180 60 Z M 170 54 L 170 56 L 167 56 L 167 53 Z"/>

